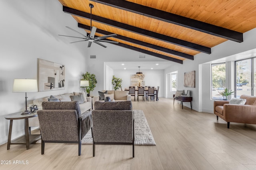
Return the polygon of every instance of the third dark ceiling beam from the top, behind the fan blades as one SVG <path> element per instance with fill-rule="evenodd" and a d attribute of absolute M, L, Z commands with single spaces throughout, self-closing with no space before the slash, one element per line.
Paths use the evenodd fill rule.
<path fill-rule="evenodd" d="M 78 23 L 78 27 L 82 28 L 82 29 L 87 29 L 90 31 L 90 26 L 88 25 L 84 25 L 82 23 Z M 108 31 L 105 31 L 105 30 L 102 30 L 102 29 L 98 29 L 97 28 L 97 33 L 101 33 L 101 34 L 104 34 L 104 35 L 109 35 L 109 34 L 112 34 L 111 32 L 108 32 Z M 171 49 L 167 49 L 167 48 L 164 48 L 164 47 L 160 47 L 160 46 L 157 46 L 157 45 L 153 45 L 153 44 L 149 44 L 149 43 L 145 43 L 143 41 L 138 41 L 136 39 L 132 39 L 132 38 L 129 38 L 129 37 L 124 37 L 122 35 L 117 35 L 116 37 L 114 38 L 117 38 L 117 39 L 121 39 L 121 40 L 124 40 L 124 41 L 128 41 L 130 43 L 134 43 L 134 44 L 138 44 L 138 45 L 143 45 L 144 47 L 148 47 L 148 48 L 152 48 L 152 49 L 156 49 L 158 51 L 163 51 L 165 53 L 170 53 L 172 55 L 176 55 L 178 57 L 183 57 L 183 58 L 186 58 L 186 59 L 190 59 L 190 60 L 194 60 L 194 56 L 193 55 L 189 55 L 189 54 L 186 54 L 186 53 L 181 53 L 179 51 L 175 51 L 175 50 L 171 50 Z"/>

